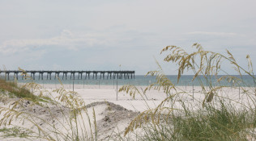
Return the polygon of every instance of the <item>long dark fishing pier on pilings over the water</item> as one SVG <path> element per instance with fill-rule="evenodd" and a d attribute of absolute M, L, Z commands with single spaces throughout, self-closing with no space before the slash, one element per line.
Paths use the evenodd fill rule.
<path fill-rule="evenodd" d="M 30 71 L 30 70 L 6 70 L 0 71 L 5 74 L 5 78 L 10 80 L 10 74 L 13 74 L 17 80 L 19 78 L 19 73 L 22 75 L 21 79 L 28 78 L 35 80 L 38 77 L 38 80 L 44 79 L 44 74 L 47 75 L 46 79 L 51 80 L 52 74 L 54 79 L 67 79 L 67 76 L 70 77 L 70 80 L 75 78 L 77 79 L 133 79 L 135 76 L 135 71 Z M 98 76 L 99 74 L 99 76 Z"/>

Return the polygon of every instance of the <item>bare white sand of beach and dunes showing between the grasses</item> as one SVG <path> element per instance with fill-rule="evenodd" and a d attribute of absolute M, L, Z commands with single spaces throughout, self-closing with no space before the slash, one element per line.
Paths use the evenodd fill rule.
<path fill-rule="evenodd" d="M 53 89 L 58 88 L 60 85 L 44 85 L 44 88 L 50 92 Z M 70 85 L 64 85 L 66 90 L 72 91 L 73 89 L 69 89 Z M 83 89 L 84 87 L 84 89 Z M 181 89 L 185 89 L 187 93 L 190 94 L 180 94 L 177 98 L 177 103 L 174 105 L 175 108 L 181 109 L 180 100 L 182 102 L 186 102 L 191 105 L 191 108 L 195 108 L 196 106 L 201 106 L 204 94 L 201 93 L 202 89 L 200 87 L 182 87 Z M 248 88 L 250 89 L 250 88 Z M 98 139 L 108 139 L 109 135 L 114 136 L 113 133 L 122 133 L 125 131 L 126 126 L 128 126 L 129 122 L 144 110 L 148 110 L 149 108 L 155 108 L 166 98 L 166 94 L 163 91 L 151 90 L 147 95 L 136 95 L 135 99 L 130 97 L 129 94 L 126 93 L 117 93 L 117 88 L 113 85 L 75 85 L 75 92 L 79 93 L 79 95 L 83 98 L 84 102 L 87 104 L 87 110 L 92 116 L 92 108 L 96 111 L 96 127 L 98 133 Z M 52 92 L 53 93 L 53 92 Z M 246 105 L 250 105 L 251 103 L 248 99 L 245 99 L 245 96 L 240 89 L 233 88 L 224 88 L 222 91 L 218 91 L 218 94 L 221 97 L 232 98 L 233 100 L 237 100 L 239 102 L 244 102 Z M 53 93 L 53 96 L 57 95 L 57 93 Z M 215 99 L 214 99 L 215 100 Z M 15 101 L 15 99 L 11 99 L 11 102 Z M 11 103 L 10 102 L 10 103 Z M 0 102 L 1 106 L 6 106 L 6 103 Z M 34 116 L 42 118 L 45 122 L 41 120 L 37 120 L 36 122 L 41 127 L 48 127 L 49 124 L 53 124 L 57 126 L 59 130 L 63 130 L 63 125 L 68 124 L 67 122 L 60 123 L 59 121 L 54 120 L 52 117 L 65 118 L 63 114 L 68 114 L 69 109 L 65 106 L 49 106 L 48 108 L 31 105 L 31 102 L 23 102 L 23 112 L 28 112 Z M 168 106 L 168 105 L 167 105 Z M 237 105 L 239 107 L 239 105 Z M 2 114 L 1 114 L 2 116 Z M 31 127 L 31 123 L 21 124 L 19 121 L 15 121 L 15 124 L 19 126 Z M 87 125 L 88 127 L 88 125 Z M 92 126 L 94 128 L 94 126 Z M 36 129 L 36 128 L 35 128 Z M 33 130 L 33 129 L 32 129 Z M 65 130 L 63 130 L 65 132 Z M 19 139 L 19 138 L 11 138 L 11 139 L 2 139 L 2 140 L 27 140 L 27 139 Z M 35 139 L 41 140 L 41 139 Z"/>

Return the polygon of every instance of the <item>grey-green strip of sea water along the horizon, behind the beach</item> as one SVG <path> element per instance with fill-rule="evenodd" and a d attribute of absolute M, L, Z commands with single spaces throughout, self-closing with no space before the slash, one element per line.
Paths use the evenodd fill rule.
<path fill-rule="evenodd" d="M 6 81 L 15 81 L 17 80 L 19 83 L 26 83 L 31 80 L 25 80 L 24 78 L 22 79 L 22 76 L 18 76 L 18 79 L 14 77 L 13 75 L 9 76 L 9 79 L 7 76 L 4 74 L 1 74 L 0 76 L 2 79 L 6 79 Z M 64 77 L 62 79 L 62 75 L 60 75 L 60 78 L 58 79 L 54 75 L 52 75 L 51 80 L 47 77 L 46 75 L 43 77 L 43 79 L 39 79 L 39 76 L 35 76 L 35 80 L 32 80 L 33 82 L 36 82 L 37 84 L 78 84 L 78 85 L 151 85 L 153 83 L 156 83 L 156 76 L 143 76 L 143 75 L 135 75 L 135 78 L 133 79 L 88 79 L 83 76 L 82 79 L 78 78 L 79 76 L 75 76 L 75 79 L 70 78 L 70 76 Z M 217 85 L 225 85 L 225 86 L 236 86 L 235 80 L 225 80 L 218 82 L 218 79 L 223 76 L 213 76 L 213 77 L 207 77 L 205 79 L 203 76 L 199 76 L 198 79 L 194 79 L 193 75 L 182 75 L 180 80 L 177 81 L 177 75 L 167 75 L 166 76 L 169 81 L 173 83 L 173 85 L 177 86 L 199 86 L 199 85 L 212 85 L 212 86 L 217 86 Z M 233 76 L 233 77 L 238 77 L 241 78 L 240 76 Z M 255 80 L 253 77 L 250 77 L 248 75 L 242 76 L 242 79 L 244 83 L 240 83 L 241 86 L 248 86 L 248 87 L 254 87 L 255 86 Z M 61 82 L 60 82 L 61 81 Z"/>

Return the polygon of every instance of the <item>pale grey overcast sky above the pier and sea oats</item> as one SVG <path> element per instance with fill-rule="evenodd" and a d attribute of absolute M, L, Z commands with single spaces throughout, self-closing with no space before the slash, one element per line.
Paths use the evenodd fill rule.
<path fill-rule="evenodd" d="M 255 0 L 1 0 L 0 69 L 143 75 L 157 69 L 157 60 L 175 75 L 176 64 L 164 63 L 161 49 L 194 52 L 194 43 L 228 49 L 247 68 L 247 54 L 256 62 L 255 6 Z"/>

